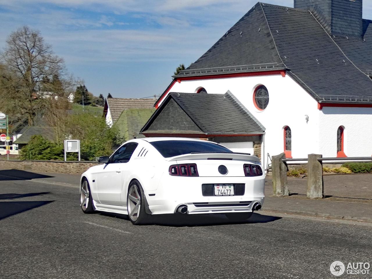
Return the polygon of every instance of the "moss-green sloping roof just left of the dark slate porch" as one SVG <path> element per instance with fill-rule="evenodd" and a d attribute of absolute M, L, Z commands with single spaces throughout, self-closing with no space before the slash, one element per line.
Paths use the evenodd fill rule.
<path fill-rule="evenodd" d="M 140 130 L 154 112 L 155 108 L 125 109 L 113 126 L 118 128 L 119 136 L 123 138 L 123 141 L 143 138 L 144 136 L 140 134 Z"/>

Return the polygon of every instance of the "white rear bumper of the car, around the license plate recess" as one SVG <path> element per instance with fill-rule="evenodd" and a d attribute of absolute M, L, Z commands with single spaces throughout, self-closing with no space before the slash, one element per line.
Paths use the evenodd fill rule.
<path fill-rule="evenodd" d="M 202 184 L 244 183 L 241 196 L 203 196 Z M 155 195 L 154 195 L 155 194 Z M 155 191 L 145 191 L 152 214 L 172 214 L 180 205 L 187 214 L 252 212 L 264 202 L 264 175 L 259 177 L 163 177 Z"/>

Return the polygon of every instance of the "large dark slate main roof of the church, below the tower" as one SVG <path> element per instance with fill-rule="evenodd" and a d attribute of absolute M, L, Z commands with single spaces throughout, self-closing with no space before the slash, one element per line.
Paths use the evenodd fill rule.
<path fill-rule="evenodd" d="M 315 11 L 257 3 L 188 70 L 275 63 L 318 102 L 372 102 L 369 23 L 365 41 L 330 36 Z"/>

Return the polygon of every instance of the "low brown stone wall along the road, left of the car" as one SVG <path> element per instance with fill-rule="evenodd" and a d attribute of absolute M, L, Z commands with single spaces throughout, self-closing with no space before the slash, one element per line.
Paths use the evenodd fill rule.
<path fill-rule="evenodd" d="M 18 161 L 0 160 L 0 169 L 40 171 L 48 173 L 82 174 L 90 167 L 99 165 L 95 161 Z"/>

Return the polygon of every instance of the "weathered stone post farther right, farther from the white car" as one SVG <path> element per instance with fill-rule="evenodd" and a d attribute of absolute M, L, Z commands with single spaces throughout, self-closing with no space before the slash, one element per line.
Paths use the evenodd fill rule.
<path fill-rule="evenodd" d="M 318 161 L 320 154 L 309 154 L 307 161 L 307 197 L 323 199 L 323 163 Z"/>

